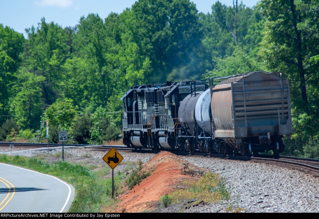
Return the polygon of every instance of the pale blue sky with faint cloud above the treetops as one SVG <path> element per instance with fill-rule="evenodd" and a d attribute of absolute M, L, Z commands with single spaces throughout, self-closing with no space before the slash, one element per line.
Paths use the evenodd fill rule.
<path fill-rule="evenodd" d="M 211 12 L 216 0 L 190 0 L 198 11 Z M 233 5 L 233 0 L 219 0 L 222 4 Z M 25 34 L 26 28 L 37 27 L 41 18 L 47 23 L 54 21 L 63 28 L 75 26 L 82 16 L 89 13 L 108 17 L 111 12 L 121 13 L 131 8 L 136 0 L 0 0 L 0 23 Z M 240 1 L 238 1 L 240 2 Z M 247 7 L 256 5 L 257 0 L 242 0 Z"/>

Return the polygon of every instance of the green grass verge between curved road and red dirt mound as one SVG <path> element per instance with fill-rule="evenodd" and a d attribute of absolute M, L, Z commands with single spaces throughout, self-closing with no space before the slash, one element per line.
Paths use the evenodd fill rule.
<path fill-rule="evenodd" d="M 112 179 L 102 179 L 101 176 L 110 172 L 109 167 L 104 167 L 99 171 L 90 171 L 89 168 L 59 161 L 48 164 L 38 158 L 27 158 L 17 156 L 0 155 L 0 162 L 25 167 L 38 172 L 56 176 L 72 184 L 76 191 L 76 196 L 72 202 L 69 212 L 102 212 L 102 206 L 113 203 Z M 115 188 L 121 183 L 124 176 L 121 172 L 115 174 Z M 115 189 L 115 195 L 122 192 Z M 116 196 L 115 196 L 116 197 Z"/>

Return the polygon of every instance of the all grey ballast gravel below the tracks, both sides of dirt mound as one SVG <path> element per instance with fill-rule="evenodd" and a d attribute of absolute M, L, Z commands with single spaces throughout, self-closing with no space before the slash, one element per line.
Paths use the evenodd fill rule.
<path fill-rule="evenodd" d="M 33 156 L 37 153 L 56 153 L 61 149 L 12 151 L 0 147 L 0 154 L 7 153 L 20 156 Z M 102 157 L 106 151 L 84 148 L 65 148 L 64 159 L 82 164 L 106 164 Z M 147 162 L 154 154 L 119 152 L 124 157 L 115 171 L 122 171 L 129 161 L 141 159 Z M 221 158 L 181 156 L 184 160 L 211 172 L 219 173 L 230 188 L 231 199 L 215 205 L 191 203 L 178 208 L 167 208 L 159 212 L 227 212 L 236 208 L 241 212 L 319 212 L 319 178 L 311 174 L 287 169 L 280 166 L 260 164 Z M 48 162 L 61 160 L 61 157 L 48 158 Z"/>

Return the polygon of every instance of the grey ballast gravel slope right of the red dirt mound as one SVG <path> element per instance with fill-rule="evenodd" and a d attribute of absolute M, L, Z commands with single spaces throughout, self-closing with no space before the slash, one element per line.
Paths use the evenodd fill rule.
<path fill-rule="evenodd" d="M 242 212 L 319 212 L 319 178 L 312 175 L 248 161 L 182 158 L 219 173 L 232 191 L 230 202 L 193 207 L 197 212 L 225 212 L 225 205 L 243 208 Z"/>

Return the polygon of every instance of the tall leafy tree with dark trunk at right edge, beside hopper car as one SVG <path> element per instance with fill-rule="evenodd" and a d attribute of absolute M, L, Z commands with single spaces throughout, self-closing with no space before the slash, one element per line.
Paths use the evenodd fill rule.
<path fill-rule="evenodd" d="M 319 137 L 318 4 L 294 0 L 259 4 L 266 20 L 260 57 L 268 68 L 283 71 L 290 79 L 292 138 L 302 139 L 303 145 Z"/>

